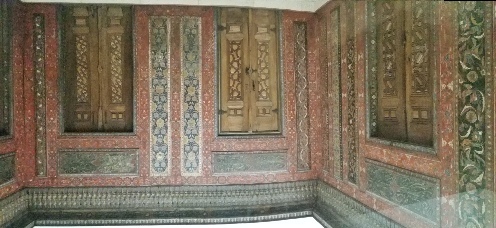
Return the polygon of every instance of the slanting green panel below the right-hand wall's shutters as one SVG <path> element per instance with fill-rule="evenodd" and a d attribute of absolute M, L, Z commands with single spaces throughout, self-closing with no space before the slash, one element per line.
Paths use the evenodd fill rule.
<path fill-rule="evenodd" d="M 440 216 L 438 179 L 366 160 L 367 191 L 435 223 Z"/>

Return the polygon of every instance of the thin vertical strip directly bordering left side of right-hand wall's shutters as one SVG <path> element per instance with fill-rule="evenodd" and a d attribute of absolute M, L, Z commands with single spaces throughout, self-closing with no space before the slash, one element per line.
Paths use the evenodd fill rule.
<path fill-rule="evenodd" d="M 377 29 L 376 29 L 376 2 L 367 2 L 367 108 L 368 108 L 368 136 L 377 134 Z"/>

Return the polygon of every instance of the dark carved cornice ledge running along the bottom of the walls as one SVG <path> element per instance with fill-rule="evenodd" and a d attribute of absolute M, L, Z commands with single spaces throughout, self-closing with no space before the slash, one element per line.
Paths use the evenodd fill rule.
<path fill-rule="evenodd" d="M 0 227 L 237 223 L 312 215 L 325 227 L 401 227 L 320 181 L 28 188 L 0 201 Z"/>

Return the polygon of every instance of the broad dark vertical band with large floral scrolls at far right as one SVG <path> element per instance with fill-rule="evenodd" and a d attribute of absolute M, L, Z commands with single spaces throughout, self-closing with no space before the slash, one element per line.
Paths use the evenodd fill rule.
<path fill-rule="evenodd" d="M 459 216 L 461 227 L 489 227 L 486 207 L 492 202 L 485 195 L 488 146 L 491 131 L 486 131 L 491 114 L 488 100 L 492 75 L 485 13 L 491 7 L 484 2 L 461 2 L 458 8 L 458 142 L 459 142 Z M 489 26 L 488 26 L 489 27 Z M 488 61 L 488 62 L 485 62 Z M 486 84 L 487 83 L 487 84 Z M 489 108 L 489 110 L 491 110 Z M 487 140 L 487 141 L 486 141 Z M 494 180 L 489 180 L 494 181 Z M 490 193 L 492 194 L 492 193 Z"/>

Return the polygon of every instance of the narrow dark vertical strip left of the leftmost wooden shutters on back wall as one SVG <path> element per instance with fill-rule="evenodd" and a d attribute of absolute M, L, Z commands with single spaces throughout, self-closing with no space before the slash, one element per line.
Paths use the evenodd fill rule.
<path fill-rule="evenodd" d="M 45 17 L 34 14 L 34 78 L 36 111 L 36 175 L 46 176 L 46 85 L 45 85 Z"/>

